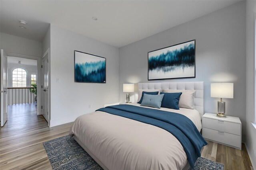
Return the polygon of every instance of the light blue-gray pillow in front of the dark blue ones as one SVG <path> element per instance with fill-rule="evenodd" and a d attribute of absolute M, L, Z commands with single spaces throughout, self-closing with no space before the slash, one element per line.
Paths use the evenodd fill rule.
<path fill-rule="evenodd" d="M 144 97 L 140 106 L 160 108 L 163 97 L 164 97 L 164 94 L 159 94 L 159 95 L 144 94 Z"/>

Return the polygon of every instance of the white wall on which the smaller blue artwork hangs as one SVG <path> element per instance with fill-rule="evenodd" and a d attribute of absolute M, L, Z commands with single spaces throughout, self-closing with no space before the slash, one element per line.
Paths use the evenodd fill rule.
<path fill-rule="evenodd" d="M 106 58 L 106 84 L 74 82 L 74 50 Z M 50 70 L 50 126 L 72 122 L 79 115 L 119 100 L 117 47 L 51 25 Z M 60 78 L 59 83 L 56 78 Z"/>

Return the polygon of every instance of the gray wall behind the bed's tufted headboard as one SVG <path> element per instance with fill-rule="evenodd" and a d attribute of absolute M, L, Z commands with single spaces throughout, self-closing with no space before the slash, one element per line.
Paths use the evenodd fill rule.
<path fill-rule="evenodd" d="M 210 97 L 210 83 L 233 82 L 234 99 L 224 99 L 226 114 L 240 117 L 245 135 L 245 24 L 245 2 L 239 2 L 120 48 L 120 102 L 125 100 L 123 83 L 203 81 L 204 111 L 217 113 L 219 99 Z M 147 80 L 148 51 L 192 39 L 196 39 L 196 78 Z"/>

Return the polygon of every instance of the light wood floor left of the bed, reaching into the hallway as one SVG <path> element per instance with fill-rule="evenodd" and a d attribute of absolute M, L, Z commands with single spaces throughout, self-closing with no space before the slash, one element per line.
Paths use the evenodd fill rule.
<path fill-rule="evenodd" d="M 8 106 L 8 121 L 0 128 L 0 169 L 51 170 L 42 143 L 68 135 L 71 125 L 49 128 L 34 104 Z"/>

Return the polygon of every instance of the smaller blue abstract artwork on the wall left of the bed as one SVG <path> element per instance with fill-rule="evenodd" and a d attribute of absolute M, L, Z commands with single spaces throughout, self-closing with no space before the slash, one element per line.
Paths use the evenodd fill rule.
<path fill-rule="evenodd" d="M 106 83 L 106 58 L 74 51 L 75 82 Z"/>

